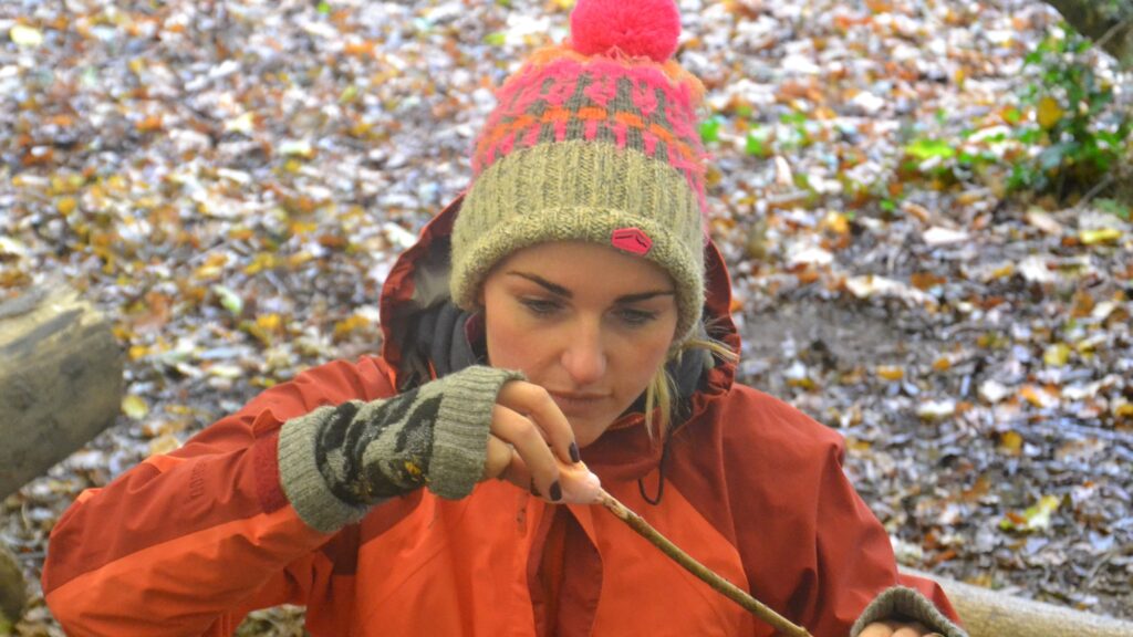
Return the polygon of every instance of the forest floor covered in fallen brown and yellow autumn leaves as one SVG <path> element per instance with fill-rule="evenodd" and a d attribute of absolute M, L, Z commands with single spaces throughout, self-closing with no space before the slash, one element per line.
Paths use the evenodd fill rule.
<path fill-rule="evenodd" d="M 492 88 L 569 5 L 0 5 L 0 299 L 65 279 L 128 351 L 118 423 L 0 509 L 35 592 L 82 490 L 375 350 L 393 258 L 466 186 Z M 903 563 L 1133 619 L 1128 207 L 1008 193 L 1034 154 L 1020 133 L 1070 117 L 1028 94 L 1057 15 L 681 6 L 741 380 L 845 436 Z M 1085 59 L 1117 117 L 1130 78 Z M 61 634 L 39 596 L 15 631 Z"/>

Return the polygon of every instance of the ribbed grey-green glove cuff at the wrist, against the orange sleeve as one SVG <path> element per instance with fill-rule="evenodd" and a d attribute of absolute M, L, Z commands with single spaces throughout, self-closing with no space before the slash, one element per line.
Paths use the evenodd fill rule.
<path fill-rule="evenodd" d="M 280 486 L 303 521 L 321 533 L 334 533 L 360 520 L 369 506 L 358 506 L 331 491 L 315 460 L 322 423 L 334 407 L 320 407 L 306 416 L 291 418 L 280 430 Z"/>

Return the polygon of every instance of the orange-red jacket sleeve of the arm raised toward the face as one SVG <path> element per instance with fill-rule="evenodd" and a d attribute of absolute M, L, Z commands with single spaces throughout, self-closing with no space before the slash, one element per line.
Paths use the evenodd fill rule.
<path fill-rule="evenodd" d="M 391 377 L 377 358 L 313 368 L 83 492 L 51 533 L 42 579 L 67 634 L 231 635 L 256 608 L 349 604 L 326 595 L 342 538 L 306 525 L 280 486 L 279 428 L 323 405 L 393 396 Z"/>

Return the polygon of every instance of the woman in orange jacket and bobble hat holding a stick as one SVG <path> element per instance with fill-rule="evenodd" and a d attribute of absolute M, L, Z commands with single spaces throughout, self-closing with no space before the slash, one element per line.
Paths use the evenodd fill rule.
<path fill-rule="evenodd" d="M 314 635 L 772 634 L 589 506 L 600 478 L 813 635 L 962 635 L 896 574 L 840 438 L 734 383 L 679 31 L 671 0 L 580 2 L 391 272 L 382 356 L 84 493 L 43 576 L 63 627 L 230 635 L 296 603 Z"/>

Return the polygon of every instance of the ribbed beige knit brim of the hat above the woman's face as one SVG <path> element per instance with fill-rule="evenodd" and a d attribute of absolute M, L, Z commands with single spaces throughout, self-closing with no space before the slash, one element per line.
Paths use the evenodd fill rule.
<path fill-rule="evenodd" d="M 613 144 L 540 144 L 512 152 L 482 173 L 453 227 L 453 300 L 472 309 L 488 272 L 516 250 L 564 240 L 612 246 L 614 231 L 625 228 L 651 240 L 642 257 L 673 278 L 676 342 L 683 342 L 704 306 L 697 194 L 667 163 Z"/>

